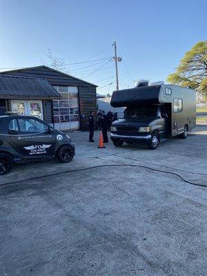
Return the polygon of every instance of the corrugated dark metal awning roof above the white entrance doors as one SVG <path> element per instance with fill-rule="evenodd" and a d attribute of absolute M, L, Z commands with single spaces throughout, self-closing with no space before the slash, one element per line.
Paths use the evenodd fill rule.
<path fill-rule="evenodd" d="M 59 99 L 46 79 L 0 75 L 0 99 Z"/>

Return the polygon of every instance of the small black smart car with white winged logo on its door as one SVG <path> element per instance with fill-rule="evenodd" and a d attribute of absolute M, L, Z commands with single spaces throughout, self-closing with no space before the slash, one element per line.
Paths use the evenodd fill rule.
<path fill-rule="evenodd" d="M 14 163 L 57 157 L 70 162 L 75 146 L 65 133 L 31 116 L 0 116 L 0 175 L 10 172 Z"/>

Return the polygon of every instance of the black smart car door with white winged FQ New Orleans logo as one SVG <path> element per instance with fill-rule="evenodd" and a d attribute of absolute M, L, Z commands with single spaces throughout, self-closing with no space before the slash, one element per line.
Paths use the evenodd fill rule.
<path fill-rule="evenodd" d="M 19 117 L 17 124 L 19 132 L 10 138 L 21 155 L 26 158 L 55 155 L 55 135 L 47 124 L 32 117 Z"/>

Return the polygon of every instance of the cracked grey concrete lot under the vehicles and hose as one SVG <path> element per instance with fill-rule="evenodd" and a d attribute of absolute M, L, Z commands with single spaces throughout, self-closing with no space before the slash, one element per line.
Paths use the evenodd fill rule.
<path fill-rule="evenodd" d="M 206 188 L 112 165 L 207 185 L 207 127 L 157 150 L 71 137 L 70 164 L 19 165 L 1 177 L 19 183 L 0 187 L 0 275 L 206 275 Z M 23 181 L 99 165 L 108 167 Z"/>

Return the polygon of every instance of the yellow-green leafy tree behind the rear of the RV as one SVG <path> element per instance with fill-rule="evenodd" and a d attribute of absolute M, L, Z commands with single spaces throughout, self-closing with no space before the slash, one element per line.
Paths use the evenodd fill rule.
<path fill-rule="evenodd" d="M 201 41 L 186 52 L 175 73 L 167 81 L 179 86 L 188 86 L 207 95 L 207 41 Z"/>

